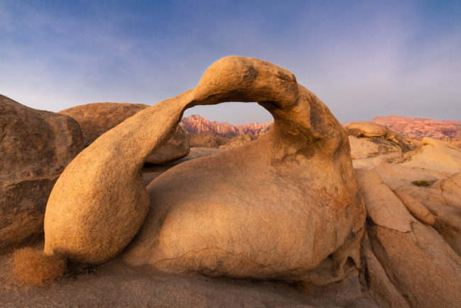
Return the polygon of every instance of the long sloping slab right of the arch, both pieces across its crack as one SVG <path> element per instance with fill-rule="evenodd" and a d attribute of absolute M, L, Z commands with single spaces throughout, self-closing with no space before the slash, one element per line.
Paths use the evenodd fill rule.
<path fill-rule="evenodd" d="M 356 170 L 356 175 L 367 207 L 372 253 L 392 285 L 412 307 L 457 307 L 461 302 L 460 256 L 431 227 L 413 219 L 399 199 L 385 196 L 383 203 L 379 196 L 386 189 L 377 183 L 375 172 Z M 387 194 L 391 194 L 389 188 Z"/>

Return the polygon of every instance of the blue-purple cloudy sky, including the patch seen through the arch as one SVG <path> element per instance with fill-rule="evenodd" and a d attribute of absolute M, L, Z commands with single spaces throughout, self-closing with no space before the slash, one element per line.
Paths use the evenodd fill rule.
<path fill-rule="evenodd" d="M 342 123 L 461 121 L 461 1 L 0 0 L 0 94 L 35 109 L 155 104 L 228 55 L 287 68 Z M 272 119 L 256 104 L 196 113 Z"/>

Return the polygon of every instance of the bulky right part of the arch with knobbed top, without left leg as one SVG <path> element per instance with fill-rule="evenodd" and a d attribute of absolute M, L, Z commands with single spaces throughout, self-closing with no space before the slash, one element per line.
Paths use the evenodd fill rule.
<path fill-rule="evenodd" d="M 345 245 L 348 235 L 338 228 L 348 233 L 360 230 L 360 202 L 350 195 L 355 187 L 348 173 L 352 169 L 345 132 L 313 94 L 294 88 L 289 72 L 252 61 L 217 62 L 201 80 L 212 82 L 214 89 L 205 91 L 199 84 L 196 90 L 206 92 L 204 97 L 219 97 L 231 93 L 229 84 L 238 84 L 245 101 L 274 95 L 270 101 L 277 101 L 278 108 L 260 103 L 274 114 L 272 131 L 243 147 L 182 163 L 157 177 L 148 186 L 151 211 L 125 253 L 128 263 L 149 263 L 172 272 L 296 280 Z M 246 82 L 235 71 L 252 72 L 255 80 Z M 232 81 L 217 83 L 216 76 Z M 271 84 L 262 76 L 279 80 Z M 309 109 L 316 110 L 316 118 L 301 116 Z M 331 128 L 324 131 L 327 126 Z M 312 135 L 323 136 L 323 142 L 316 143 Z M 348 185 L 352 186 L 345 189 Z M 314 211 L 308 204 L 325 205 Z M 355 217 L 354 222 L 345 217 Z M 332 233 L 337 235 L 325 236 Z"/>

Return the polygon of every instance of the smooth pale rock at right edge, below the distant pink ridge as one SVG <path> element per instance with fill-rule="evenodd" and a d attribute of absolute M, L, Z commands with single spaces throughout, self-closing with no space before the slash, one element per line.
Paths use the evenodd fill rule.
<path fill-rule="evenodd" d="M 406 154 L 401 165 L 451 175 L 461 171 L 461 149 L 447 141 L 423 138 L 416 150 Z"/>

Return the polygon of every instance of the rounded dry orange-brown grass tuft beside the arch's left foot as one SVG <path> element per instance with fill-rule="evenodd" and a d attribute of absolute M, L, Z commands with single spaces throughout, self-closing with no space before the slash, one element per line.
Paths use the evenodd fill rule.
<path fill-rule="evenodd" d="M 32 248 L 22 248 L 13 253 L 12 276 L 28 285 L 43 286 L 55 281 L 66 270 L 66 260 Z"/>

